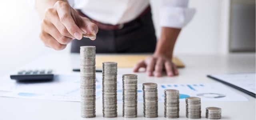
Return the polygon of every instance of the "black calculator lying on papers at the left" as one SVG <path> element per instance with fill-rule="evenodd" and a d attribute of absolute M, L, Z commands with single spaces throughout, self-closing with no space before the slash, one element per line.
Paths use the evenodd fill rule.
<path fill-rule="evenodd" d="M 50 81 L 53 80 L 52 70 L 20 70 L 17 74 L 10 75 L 12 80 L 22 81 Z"/>

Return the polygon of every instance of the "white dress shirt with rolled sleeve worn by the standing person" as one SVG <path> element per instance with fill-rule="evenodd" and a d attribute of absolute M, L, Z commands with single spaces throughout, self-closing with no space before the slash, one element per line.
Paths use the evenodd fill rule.
<path fill-rule="evenodd" d="M 123 24 L 137 18 L 149 5 L 149 0 L 68 0 L 70 6 L 80 9 L 86 16 L 104 24 Z M 182 28 L 194 16 L 188 0 L 159 0 L 159 24 Z"/>

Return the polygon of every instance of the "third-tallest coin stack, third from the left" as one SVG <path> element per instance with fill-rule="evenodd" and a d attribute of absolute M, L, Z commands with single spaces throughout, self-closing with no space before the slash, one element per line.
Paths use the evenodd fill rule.
<path fill-rule="evenodd" d="M 123 75 L 123 117 L 137 117 L 137 75 Z"/>

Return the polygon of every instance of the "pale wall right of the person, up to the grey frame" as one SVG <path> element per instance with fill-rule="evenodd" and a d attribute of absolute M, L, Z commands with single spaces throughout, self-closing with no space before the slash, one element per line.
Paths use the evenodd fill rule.
<path fill-rule="evenodd" d="M 154 23 L 158 24 L 160 0 L 151 0 Z M 229 0 L 190 0 L 196 8 L 190 23 L 182 29 L 174 54 L 226 54 L 228 52 Z M 160 27 L 156 26 L 157 35 Z M 224 34 L 224 35 L 223 35 Z"/>

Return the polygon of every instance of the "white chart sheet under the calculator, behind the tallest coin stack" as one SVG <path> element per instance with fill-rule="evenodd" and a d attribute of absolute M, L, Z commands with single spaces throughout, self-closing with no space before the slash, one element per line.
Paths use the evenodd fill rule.
<path fill-rule="evenodd" d="M 97 80 L 96 80 L 97 81 Z M 43 100 L 80 101 L 80 74 L 62 74 L 54 76 L 52 82 L 13 83 L 0 86 L 5 94 L 12 98 Z M 101 96 L 101 83 L 96 82 L 96 99 Z"/>

